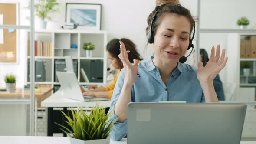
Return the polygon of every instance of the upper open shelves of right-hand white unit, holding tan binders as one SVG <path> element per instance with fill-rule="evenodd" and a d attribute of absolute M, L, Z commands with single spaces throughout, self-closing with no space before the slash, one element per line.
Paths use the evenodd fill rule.
<path fill-rule="evenodd" d="M 254 49 L 256 50 L 254 46 L 255 40 L 256 30 L 227 34 L 227 49 L 233 49 L 227 51 L 229 61 L 232 61 L 232 65 L 226 65 L 227 80 L 229 82 L 236 83 L 241 87 L 256 86 L 256 56 L 253 56 L 253 51 Z M 249 45 L 244 45 L 245 41 L 248 41 Z M 245 49 L 247 51 L 246 53 Z M 245 65 L 249 67 L 247 74 L 243 71 Z M 236 98 L 239 97 L 238 93 L 239 90 L 236 91 Z"/>

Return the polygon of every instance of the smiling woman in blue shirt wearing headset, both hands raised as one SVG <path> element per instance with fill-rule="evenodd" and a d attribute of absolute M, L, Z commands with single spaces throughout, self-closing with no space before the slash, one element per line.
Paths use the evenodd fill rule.
<path fill-rule="evenodd" d="M 190 11 L 180 4 L 163 4 L 148 16 L 146 31 L 154 57 L 140 63 L 134 60 L 132 65 L 124 43 L 120 42 L 119 58 L 124 68 L 115 85 L 110 108 L 113 111 L 110 118 L 118 118 L 111 131 L 114 141 L 126 136 L 127 105 L 131 101 L 218 102 L 213 79 L 226 65 L 225 49 L 220 56 L 218 45 L 215 55 L 213 46 L 209 62 L 205 67 L 199 62 L 197 70 L 179 62 L 187 49 L 193 47 L 190 35 L 194 23 Z"/>

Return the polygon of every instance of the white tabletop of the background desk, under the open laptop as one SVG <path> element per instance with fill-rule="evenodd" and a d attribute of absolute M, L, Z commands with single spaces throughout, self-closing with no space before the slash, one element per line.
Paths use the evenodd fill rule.
<path fill-rule="evenodd" d="M 41 107 L 94 107 L 96 101 L 76 101 L 66 98 L 61 93 L 54 93 L 49 98 L 46 98 L 41 102 Z M 109 101 L 99 101 L 100 107 L 110 107 L 111 100 Z"/>

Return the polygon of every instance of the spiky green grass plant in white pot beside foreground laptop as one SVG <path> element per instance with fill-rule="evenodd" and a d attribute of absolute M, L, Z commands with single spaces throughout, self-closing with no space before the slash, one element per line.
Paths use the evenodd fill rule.
<path fill-rule="evenodd" d="M 116 119 L 108 119 L 112 112 L 105 114 L 105 108 L 100 108 L 98 103 L 91 111 L 91 114 L 85 113 L 82 108 L 69 110 L 66 115 L 66 124 L 70 127 L 61 126 L 67 135 L 70 136 L 71 144 L 109 144 L 110 131 Z M 70 115 L 70 112 L 72 116 Z M 57 124 L 57 123 L 56 123 Z"/>

